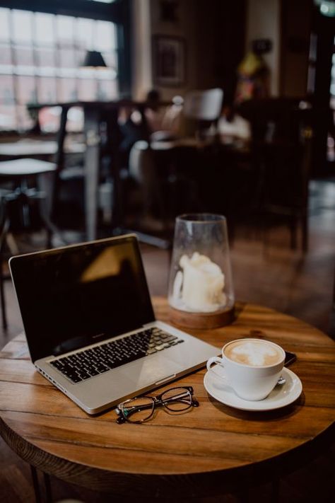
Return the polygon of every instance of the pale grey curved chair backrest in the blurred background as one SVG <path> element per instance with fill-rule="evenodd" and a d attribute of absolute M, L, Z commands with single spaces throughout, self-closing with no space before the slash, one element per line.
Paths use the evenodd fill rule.
<path fill-rule="evenodd" d="M 184 98 L 183 114 L 189 119 L 217 120 L 221 114 L 223 90 L 189 91 Z"/>

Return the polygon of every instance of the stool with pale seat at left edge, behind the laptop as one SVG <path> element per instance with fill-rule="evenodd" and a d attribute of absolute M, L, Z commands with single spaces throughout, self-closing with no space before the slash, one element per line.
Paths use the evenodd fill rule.
<path fill-rule="evenodd" d="M 0 187 L 0 302 L 2 313 L 2 326 L 7 328 L 6 305 L 4 296 L 4 245 L 7 243 L 11 253 L 19 253 L 16 242 L 11 236 L 11 215 L 8 205 L 16 202 L 20 208 L 23 226 L 29 224 L 29 203 L 31 200 L 40 200 L 40 217 L 47 230 L 47 248 L 51 246 L 52 233 L 56 231 L 50 215 L 52 210 L 52 195 L 54 187 L 54 174 L 57 166 L 47 161 L 33 158 L 14 159 L 13 161 L 0 162 L 1 180 L 11 182 L 11 188 Z M 37 183 L 29 187 L 28 180 L 37 178 Z"/>

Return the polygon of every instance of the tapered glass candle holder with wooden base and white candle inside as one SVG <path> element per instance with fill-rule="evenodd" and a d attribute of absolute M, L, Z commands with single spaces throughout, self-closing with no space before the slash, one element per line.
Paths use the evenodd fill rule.
<path fill-rule="evenodd" d="M 177 216 L 168 290 L 178 325 L 213 328 L 233 321 L 234 289 L 225 216 Z"/>

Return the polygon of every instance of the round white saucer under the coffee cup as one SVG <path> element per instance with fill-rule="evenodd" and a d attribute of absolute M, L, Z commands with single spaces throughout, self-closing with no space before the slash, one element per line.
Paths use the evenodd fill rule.
<path fill-rule="evenodd" d="M 215 371 L 225 377 L 224 369 L 220 365 L 216 365 Z M 242 400 L 225 384 L 221 378 L 217 377 L 213 372 L 207 371 L 204 376 L 204 386 L 207 393 L 213 398 L 216 398 L 221 403 L 235 407 L 240 410 L 274 410 L 285 407 L 293 403 L 302 392 L 302 383 L 300 378 L 293 371 L 283 368 L 281 372 L 283 378 L 286 379 L 285 384 L 277 384 L 271 393 L 264 400 L 250 401 Z"/>

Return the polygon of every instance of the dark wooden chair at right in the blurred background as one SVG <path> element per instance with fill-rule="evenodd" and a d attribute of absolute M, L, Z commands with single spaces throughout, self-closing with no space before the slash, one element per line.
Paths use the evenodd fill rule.
<path fill-rule="evenodd" d="M 276 217 L 290 227 L 291 248 L 308 247 L 308 182 L 310 178 L 311 110 L 300 100 L 249 100 L 239 109 L 252 125 L 251 159 L 257 184 L 254 200 L 271 226 Z"/>

